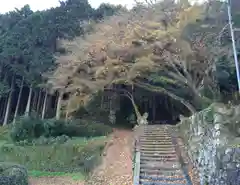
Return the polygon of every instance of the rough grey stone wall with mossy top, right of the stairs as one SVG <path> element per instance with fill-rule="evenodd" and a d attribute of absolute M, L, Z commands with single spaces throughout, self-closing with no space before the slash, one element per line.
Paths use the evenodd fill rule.
<path fill-rule="evenodd" d="M 212 104 L 178 124 L 201 185 L 240 184 L 240 106 Z"/>

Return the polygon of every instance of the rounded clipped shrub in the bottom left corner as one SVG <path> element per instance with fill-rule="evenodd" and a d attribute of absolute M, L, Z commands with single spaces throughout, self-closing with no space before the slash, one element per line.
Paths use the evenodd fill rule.
<path fill-rule="evenodd" d="M 28 185 L 28 174 L 24 166 L 0 163 L 1 185 Z"/>

